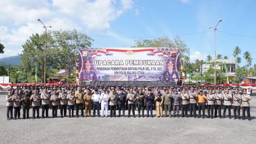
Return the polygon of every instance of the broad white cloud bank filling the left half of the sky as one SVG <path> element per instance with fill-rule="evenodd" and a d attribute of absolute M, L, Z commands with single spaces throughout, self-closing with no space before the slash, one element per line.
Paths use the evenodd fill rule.
<path fill-rule="evenodd" d="M 5 53 L 0 58 L 22 53 L 22 45 L 32 34 L 43 33 L 38 18 L 52 26 L 47 30 L 107 32 L 111 22 L 132 7 L 132 0 L 1 0 L 0 38 Z"/>

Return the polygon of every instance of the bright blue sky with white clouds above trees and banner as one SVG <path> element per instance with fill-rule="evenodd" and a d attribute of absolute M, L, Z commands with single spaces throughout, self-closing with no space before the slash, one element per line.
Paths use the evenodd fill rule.
<path fill-rule="evenodd" d="M 245 51 L 251 52 L 255 64 L 255 5 L 254 0 L 0 0 L 0 39 L 5 46 L 0 58 L 22 53 L 29 36 L 43 33 L 40 18 L 51 30 L 75 28 L 91 35 L 92 47 L 130 47 L 139 39 L 121 37 L 187 34 L 180 38 L 190 48 L 191 61 L 206 60 L 207 55 L 214 56 L 214 32 L 203 31 L 222 19 L 216 31 L 216 54 L 234 58 L 232 51 L 239 46 L 240 65 L 246 63 Z"/>

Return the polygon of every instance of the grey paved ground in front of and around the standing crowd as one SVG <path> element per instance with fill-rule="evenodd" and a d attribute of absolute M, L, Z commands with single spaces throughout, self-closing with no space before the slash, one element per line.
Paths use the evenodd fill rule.
<path fill-rule="evenodd" d="M 251 101 L 251 121 L 194 117 L 65 117 L 6 120 L 5 105 L 5 93 L 0 93 L 0 143 L 4 144 L 256 143 L 256 96 L 253 96 Z M 155 111 L 153 112 L 155 114 Z M 127 113 L 126 111 L 126 115 Z M 30 109 L 31 116 L 32 109 Z M 50 116 L 52 116 L 51 111 Z"/>

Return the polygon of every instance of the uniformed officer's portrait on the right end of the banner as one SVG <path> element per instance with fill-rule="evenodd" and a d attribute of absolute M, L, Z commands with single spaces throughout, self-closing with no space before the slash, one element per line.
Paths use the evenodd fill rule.
<path fill-rule="evenodd" d="M 174 69 L 174 60 L 167 61 L 167 70 L 162 74 L 162 81 L 179 81 L 178 72 Z"/>

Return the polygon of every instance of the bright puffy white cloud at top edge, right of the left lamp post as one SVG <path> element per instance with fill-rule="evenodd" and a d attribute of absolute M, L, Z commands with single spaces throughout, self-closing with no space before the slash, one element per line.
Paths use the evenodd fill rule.
<path fill-rule="evenodd" d="M 53 0 L 53 6 L 59 13 L 65 13 L 74 19 L 81 19 L 86 30 L 107 30 L 110 22 L 114 21 L 128 9 L 131 9 L 131 0 L 120 0 L 116 6 L 113 0 L 96 0 L 93 2 L 83 0 Z"/>

